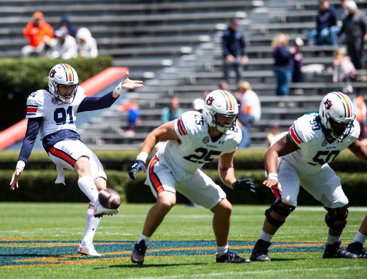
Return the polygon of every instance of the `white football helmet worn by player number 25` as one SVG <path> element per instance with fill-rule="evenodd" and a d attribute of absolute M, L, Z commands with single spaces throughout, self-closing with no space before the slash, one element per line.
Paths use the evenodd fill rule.
<path fill-rule="evenodd" d="M 226 90 L 214 90 L 208 94 L 204 105 L 204 118 L 209 126 L 221 133 L 226 133 L 236 124 L 238 104 L 231 93 Z M 230 124 L 221 124 L 217 115 L 231 117 Z"/>

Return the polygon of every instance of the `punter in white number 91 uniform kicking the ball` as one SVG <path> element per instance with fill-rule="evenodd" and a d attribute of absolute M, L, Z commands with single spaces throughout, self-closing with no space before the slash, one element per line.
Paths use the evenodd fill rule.
<path fill-rule="evenodd" d="M 141 83 L 130 80 L 126 72 L 126 77 L 113 92 L 102 97 L 88 97 L 79 86 L 76 71 L 68 64 L 58 64 L 48 76 L 48 90 L 33 92 L 27 99 L 27 131 L 10 182 L 11 190 L 18 188 L 18 180 L 40 131 L 43 147 L 58 171 L 55 183 L 65 184 L 63 168 L 74 170 L 79 176 L 81 191 L 91 201 L 83 239 L 77 248 L 80 254 L 101 256 L 92 244 L 100 217 L 116 214 L 118 210 L 104 208 L 98 201 L 98 192 L 106 188 L 107 177 L 97 156 L 80 140 L 75 126 L 76 114 L 110 107 L 124 89 L 142 87 Z"/>

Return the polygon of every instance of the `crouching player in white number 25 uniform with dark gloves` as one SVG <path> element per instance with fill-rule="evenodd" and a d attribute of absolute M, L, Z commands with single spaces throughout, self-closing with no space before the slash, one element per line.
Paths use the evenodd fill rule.
<path fill-rule="evenodd" d="M 233 169 L 233 154 L 241 142 L 241 130 L 236 125 L 238 104 L 231 93 L 215 90 L 206 97 L 204 114 L 188 111 L 149 133 L 141 153 L 129 175 L 135 179 L 138 169 L 145 171 L 145 161 L 152 148 L 167 141 L 148 165 L 145 184 L 150 186 L 157 203 L 149 210 L 134 250 L 133 263 L 142 264 L 150 236 L 176 203 L 178 191 L 193 202 L 214 213 L 213 230 L 217 242 L 217 263 L 247 263 L 228 248 L 228 233 L 232 205 L 225 192 L 200 168 L 218 158 L 218 172 L 223 183 L 236 191 L 255 192 L 250 179 L 237 180 Z"/>

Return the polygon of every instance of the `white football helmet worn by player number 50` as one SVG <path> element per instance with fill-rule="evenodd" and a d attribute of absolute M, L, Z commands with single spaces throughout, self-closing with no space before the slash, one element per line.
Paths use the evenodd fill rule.
<path fill-rule="evenodd" d="M 321 100 L 319 115 L 321 124 L 335 139 L 349 135 L 356 118 L 353 102 L 341 92 L 331 92 Z"/>

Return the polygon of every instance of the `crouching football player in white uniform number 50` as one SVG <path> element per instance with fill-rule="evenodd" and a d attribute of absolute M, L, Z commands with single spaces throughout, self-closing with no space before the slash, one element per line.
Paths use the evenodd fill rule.
<path fill-rule="evenodd" d="M 264 226 L 251 260 L 270 261 L 270 240 L 296 208 L 300 185 L 323 203 L 328 212 L 325 222 L 329 231 L 323 257 L 358 257 L 340 247 L 348 216 L 348 198 L 340 178 L 328 165 L 345 148 L 367 163 L 367 148 L 357 140 L 360 126 L 355 117 L 350 98 L 331 92 L 321 100 L 318 112 L 298 118 L 288 132 L 274 139 L 265 154 L 268 178 L 263 184 L 272 188 L 276 200 L 265 211 Z"/>

